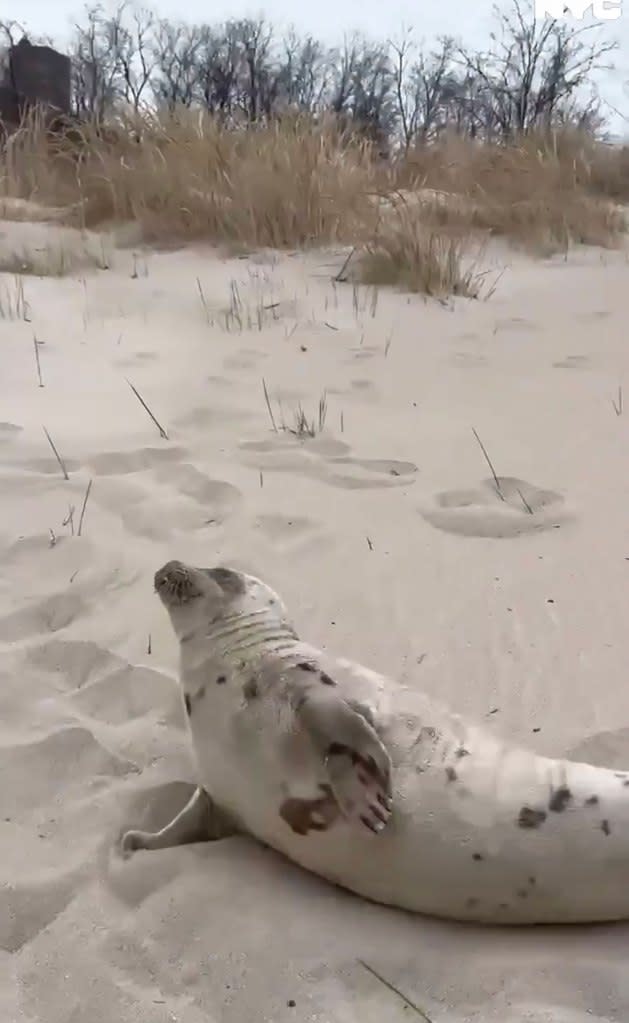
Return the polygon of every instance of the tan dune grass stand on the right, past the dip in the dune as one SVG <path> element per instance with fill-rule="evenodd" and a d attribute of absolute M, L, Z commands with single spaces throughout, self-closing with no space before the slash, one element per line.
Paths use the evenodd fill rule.
<path fill-rule="evenodd" d="M 629 149 L 568 129 L 510 146 L 445 138 L 411 151 L 398 179 L 411 193 L 436 192 L 422 204 L 435 227 L 480 230 L 536 255 L 612 248 L 627 229 Z"/>

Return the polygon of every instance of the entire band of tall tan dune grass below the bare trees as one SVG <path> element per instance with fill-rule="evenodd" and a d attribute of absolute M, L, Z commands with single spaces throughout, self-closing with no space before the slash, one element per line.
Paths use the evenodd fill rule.
<path fill-rule="evenodd" d="M 227 129 L 180 109 L 52 139 L 33 114 L 0 155 L 9 199 L 53 206 L 56 219 L 64 207 L 82 228 L 133 222 L 161 244 L 352 244 L 369 283 L 475 297 L 487 236 L 543 256 L 618 244 L 629 150 L 569 131 L 508 146 L 445 137 L 385 164 L 331 118 Z"/>

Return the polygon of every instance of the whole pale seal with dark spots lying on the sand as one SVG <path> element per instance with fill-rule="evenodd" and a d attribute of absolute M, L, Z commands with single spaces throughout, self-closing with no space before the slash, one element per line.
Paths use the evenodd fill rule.
<path fill-rule="evenodd" d="M 198 788 L 122 851 L 246 833 L 372 901 L 459 921 L 629 919 L 629 771 L 550 759 L 300 639 L 255 576 L 169 562 Z"/>

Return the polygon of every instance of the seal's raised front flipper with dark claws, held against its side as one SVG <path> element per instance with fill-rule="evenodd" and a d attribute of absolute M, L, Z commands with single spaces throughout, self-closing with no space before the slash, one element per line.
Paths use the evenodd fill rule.
<path fill-rule="evenodd" d="M 321 752 L 342 813 L 373 832 L 391 816 L 391 758 L 366 717 L 335 693 L 308 690 L 297 715 Z"/>

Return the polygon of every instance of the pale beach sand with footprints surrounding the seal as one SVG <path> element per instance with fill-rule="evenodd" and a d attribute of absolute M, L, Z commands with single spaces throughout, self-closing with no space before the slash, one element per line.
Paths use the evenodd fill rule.
<path fill-rule="evenodd" d="M 312 641 L 536 750 L 629 765 L 626 254 L 496 250 L 489 301 L 439 303 L 334 285 L 342 251 L 103 246 L 106 270 L 0 277 L 0 1018 L 626 1020 L 629 925 L 446 925 L 245 839 L 115 852 L 193 783 L 170 558 L 263 576 Z M 314 438 L 281 429 L 300 404 Z"/>

